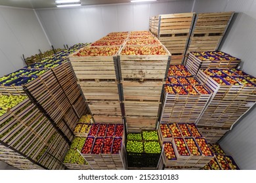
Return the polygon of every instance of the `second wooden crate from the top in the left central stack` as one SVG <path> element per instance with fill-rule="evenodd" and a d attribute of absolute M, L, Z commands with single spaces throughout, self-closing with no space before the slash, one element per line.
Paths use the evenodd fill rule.
<path fill-rule="evenodd" d="M 83 80 L 78 84 L 87 101 L 119 101 L 116 79 Z"/>

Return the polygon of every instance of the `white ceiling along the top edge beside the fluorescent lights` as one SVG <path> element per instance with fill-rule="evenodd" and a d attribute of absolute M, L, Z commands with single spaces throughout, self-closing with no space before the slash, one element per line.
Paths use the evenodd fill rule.
<path fill-rule="evenodd" d="M 81 0 L 81 5 L 104 5 L 112 3 L 130 3 L 130 0 Z M 1 0 L 0 5 L 20 8 L 56 8 L 55 0 Z"/>

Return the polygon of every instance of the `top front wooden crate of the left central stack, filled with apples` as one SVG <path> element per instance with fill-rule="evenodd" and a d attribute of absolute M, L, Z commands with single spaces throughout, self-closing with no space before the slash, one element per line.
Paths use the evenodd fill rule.
<path fill-rule="evenodd" d="M 83 50 L 98 49 L 116 49 L 111 56 L 83 56 Z M 117 75 L 117 52 L 120 46 L 85 46 L 77 50 L 74 54 L 69 56 L 70 62 L 74 69 L 75 76 L 78 81 L 94 79 L 112 79 L 118 80 Z M 77 56 L 78 54 L 78 56 Z"/>

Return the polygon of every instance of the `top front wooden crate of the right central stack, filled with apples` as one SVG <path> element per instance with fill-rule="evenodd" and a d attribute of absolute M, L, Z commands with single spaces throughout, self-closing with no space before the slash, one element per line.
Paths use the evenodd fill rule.
<path fill-rule="evenodd" d="M 142 48 L 163 50 L 165 55 L 126 55 L 123 54 L 129 48 Z M 167 73 L 167 67 L 171 54 L 165 46 L 123 46 L 118 52 L 117 61 L 119 66 L 120 80 L 127 78 L 144 79 L 160 79 L 164 80 Z"/>

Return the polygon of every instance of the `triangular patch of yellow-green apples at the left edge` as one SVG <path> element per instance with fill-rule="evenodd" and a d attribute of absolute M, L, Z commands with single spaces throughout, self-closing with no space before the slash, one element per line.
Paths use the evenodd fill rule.
<path fill-rule="evenodd" d="M 3 116 L 26 98 L 26 95 L 0 95 L 0 116 Z"/>

